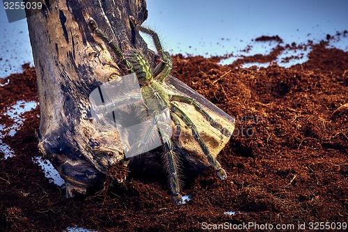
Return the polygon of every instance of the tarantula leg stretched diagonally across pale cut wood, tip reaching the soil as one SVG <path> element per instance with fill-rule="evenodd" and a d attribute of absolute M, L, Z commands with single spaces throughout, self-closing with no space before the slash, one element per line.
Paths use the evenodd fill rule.
<path fill-rule="evenodd" d="M 221 180 L 226 180 L 226 171 L 221 167 L 221 164 L 212 156 L 209 149 L 207 148 L 207 145 L 205 145 L 203 139 L 200 138 L 196 125 L 193 124 L 191 119 L 184 113 L 184 111 L 177 108 L 175 105 L 171 105 L 171 111 L 173 111 L 174 114 L 179 116 L 179 118 L 182 121 L 184 121 L 184 123 L 188 127 L 191 128 L 193 138 L 196 139 L 196 141 L 198 141 L 200 148 L 203 150 L 203 153 L 207 156 L 209 164 L 216 170 L 217 176 L 219 176 Z"/>

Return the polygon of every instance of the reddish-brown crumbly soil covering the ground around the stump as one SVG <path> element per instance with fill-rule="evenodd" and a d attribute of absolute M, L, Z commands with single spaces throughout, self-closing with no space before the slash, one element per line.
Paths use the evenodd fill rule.
<path fill-rule="evenodd" d="M 182 192 L 192 199 L 180 207 L 164 172 L 131 171 L 106 197 L 65 199 L 64 190 L 32 162 L 40 155 L 39 109 L 27 112 L 15 136 L 3 138 L 16 156 L 0 160 L 0 231 L 201 231 L 203 222 L 295 229 L 306 222 L 308 229 L 309 222 L 347 222 L 348 52 L 327 49 L 326 42 L 310 46 L 309 61 L 291 68 L 173 57 L 175 77 L 236 118 L 234 136 L 219 155 L 228 180 L 219 181 L 212 169 L 188 176 Z M 33 68 L 26 65 L 7 79 L 10 84 L 0 87 L 0 111 L 17 100 L 38 101 Z M 13 122 L 0 114 L 0 123 Z"/>

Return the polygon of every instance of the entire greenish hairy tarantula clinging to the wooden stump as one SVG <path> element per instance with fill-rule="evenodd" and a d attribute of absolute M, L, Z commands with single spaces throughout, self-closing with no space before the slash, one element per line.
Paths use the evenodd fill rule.
<path fill-rule="evenodd" d="M 223 170 L 219 162 L 209 152 L 207 145 L 198 133 L 196 125 L 194 125 L 187 114 L 185 114 L 182 109 L 179 109 L 179 107 L 173 104 L 173 102 L 183 102 L 189 105 L 193 105 L 196 111 L 202 114 L 204 118 L 210 123 L 210 125 L 216 128 L 216 130 L 219 130 L 221 134 L 229 137 L 231 133 L 226 127 L 223 127 L 220 123 L 214 121 L 214 119 L 209 116 L 207 111 L 205 111 L 193 98 L 189 98 L 184 95 L 169 95 L 165 91 L 165 89 L 162 87 L 162 84 L 165 82 L 166 77 L 168 77 L 169 73 L 171 72 L 172 63 L 170 54 L 168 52 L 164 52 L 164 50 L 162 49 L 161 43 L 159 42 L 159 38 L 155 31 L 146 29 L 145 27 L 141 26 L 132 16 L 129 16 L 129 20 L 130 22 L 132 22 L 133 26 L 136 29 L 139 29 L 139 31 L 146 33 L 152 37 L 152 40 L 154 41 L 155 47 L 157 49 L 157 53 L 160 57 L 160 61 L 158 62 L 154 70 L 152 70 L 149 61 L 145 59 L 145 56 L 141 54 L 139 50 L 130 49 L 129 52 L 123 54 L 120 48 L 116 45 L 116 42 L 110 40 L 104 32 L 98 29 L 95 20 L 90 18 L 88 23 L 93 29 L 94 33 L 102 38 L 105 42 L 107 42 L 113 49 L 113 51 L 116 53 L 116 56 L 118 56 L 118 59 L 122 61 L 122 63 L 127 68 L 127 72 L 135 73 L 141 89 L 139 98 L 143 98 L 145 102 L 145 107 L 141 111 L 146 111 L 146 113 L 142 115 L 145 117 L 148 117 L 150 115 L 153 118 L 152 121 L 150 121 L 151 123 L 149 123 L 148 127 L 141 132 L 142 139 L 140 139 L 140 141 L 136 141 L 136 143 L 131 146 L 129 150 L 136 150 L 136 148 L 139 148 L 146 144 L 146 141 L 154 130 L 156 130 L 157 133 L 161 134 L 161 144 L 164 149 L 162 157 L 164 163 L 166 164 L 166 171 L 168 172 L 169 183 L 171 185 L 171 191 L 173 192 L 173 199 L 175 203 L 177 203 L 177 205 L 180 205 L 183 203 L 183 201 L 182 195 L 180 194 L 180 178 L 178 176 L 179 157 L 175 152 L 175 146 L 180 146 L 180 133 L 182 127 L 181 122 L 183 122 L 185 125 L 187 125 L 187 127 L 191 129 L 193 138 L 196 139 L 200 148 L 203 150 L 203 153 L 206 155 L 209 164 L 216 170 L 217 176 L 219 176 L 221 180 L 225 180 L 227 178 L 227 174 L 226 171 Z M 112 105 L 115 105 L 115 102 L 113 102 L 113 104 L 109 104 L 109 108 L 112 107 Z M 173 132 L 173 134 L 170 134 L 165 129 L 163 129 L 164 127 L 166 127 L 166 125 L 163 126 L 164 123 L 161 122 L 159 115 L 164 109 L 168 109 L 168 118 L 170 118 L 170 121 L 173 121 L 175 125 L 175 131 Z M 171 127 L 171 125 L 169 126 Z"/>

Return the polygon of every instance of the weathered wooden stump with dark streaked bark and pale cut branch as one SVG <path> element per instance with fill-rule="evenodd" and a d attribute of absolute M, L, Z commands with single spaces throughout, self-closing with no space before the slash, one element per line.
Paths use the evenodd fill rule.
<path fill-rule="evenodd" d="M 109 77 L 125 73 L 118 67 L 115 54 L 88 27 L 88 19 L 93 17 L 122 50 L 140 49 L 153 61 L 153 52 L 130 26 L 129 15 L 140 23 L 146 20 L 145 0 L 45 1 L 39 13 L 27 18 L 40 98 L 38 147 L 65 180 L 68 196 L 102 186 L 108 170 L 124 158 L 118 132 L 100 130 L 91 117 L 89 94 Z M 167 83 L 166 88 L 174 93 L 178 82 L 175 77 L 170 79 L 173 83 Z M 229 137 L 209 134 L 209 123 L 202 123 L 204 118 L 191 106 L 182 107 L 198 123 L 216 157 Z M 233 121 L 214 109 L 211 113 L 232 132 Z M 205 164 L 191 131 L 183 130 L 182 139 L 187 154 L 198 157 L 192 160 Z"/>

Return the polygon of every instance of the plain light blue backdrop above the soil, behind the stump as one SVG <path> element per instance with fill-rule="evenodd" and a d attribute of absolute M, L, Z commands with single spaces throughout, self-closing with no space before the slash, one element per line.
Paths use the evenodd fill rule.
<path fill-rule="evenodd" d="M 285 43 L 319 42 L 348 29 L 345 0 L 148 0 L 144 25 L 155 29 L 171 53 L 203 56 L 238 54 L 258 36 Z M 8 23 L 0 3 L 0 78 L 33 62 L 26 20 Z M 347 51 L 347 38 L 336 47 Z M 253 53 L 258 53 L 255 49 Z"/>

